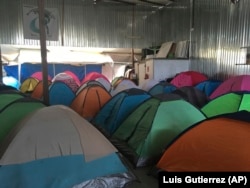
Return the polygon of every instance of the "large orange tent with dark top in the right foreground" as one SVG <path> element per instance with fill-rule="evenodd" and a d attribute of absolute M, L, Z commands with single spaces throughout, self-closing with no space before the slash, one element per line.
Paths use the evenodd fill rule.
<path fill-rule="evenodd" d="M 249 117 L 249 112 L 240 111 L 191 126 L 166 148 L 157 168 L 168 172 L 249 172 Z"/>

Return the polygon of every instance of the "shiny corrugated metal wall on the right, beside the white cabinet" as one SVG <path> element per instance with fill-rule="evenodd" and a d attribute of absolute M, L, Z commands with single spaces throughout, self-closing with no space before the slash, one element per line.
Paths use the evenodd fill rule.
<path fill-rule="evenodd" d="M 196 0 L 194 2 L 191 68 L 215 79 L 249 74 L 245 49 L 250 46 L 250 1 Z"/>

